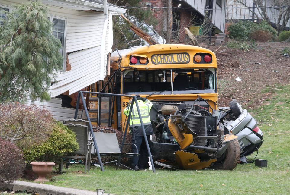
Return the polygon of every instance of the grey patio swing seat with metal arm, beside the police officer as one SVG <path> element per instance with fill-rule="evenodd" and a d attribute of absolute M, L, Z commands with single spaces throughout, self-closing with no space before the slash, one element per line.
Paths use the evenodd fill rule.
<path fill-rule="evenodd" d="M 98 128 L 93 128 L 93 129 L 98 129 Z M 112 129 L 98 129 L 98 130 L 100 130 L 101 132 L 94 132 L 94 135 L 95 135 L 96 143 L 97 143 L 98 150 L 99 150 L 101 157 L 112 156 L 114 158 L 119 158 L 119 157 L 132 158 L 133 156 L 140 155 L 138 153 L 122 153 L 121 149 L 120 149 L 120 146 L 122 146 L 122 145 L 133 145 L 134 147 L 136 147 L 136 149 L 137 149 L 137 146 L 134 143 L 118 144 L 117 136 L 116 136 L 116 133 L 114 130 L 112 130 Z M 103 132 L 104 130 L 113 131 L 114 133 L 104 133 Z M 93 147 L 91 149 L 91 153 L 89 154 L 89 161 L 91 160 L 91 155 L 94 153 L 95 153 L 95 149 L 94 149 L 94 145 L 93 145 Z M 111 163 L 111 162 L 118 162 L 118 161 L 114 160 L 114 161 L 110 161 L 110 162 L 103 162 L 103 164 L 107 164 L 107 163 Z M 120 163 L 120 165 L 122 165 L 130 170 L 133 170 L 133 169 L 121 164 L 121 163 Z M 120 165 L 117 164 L 117 168 Z"/>

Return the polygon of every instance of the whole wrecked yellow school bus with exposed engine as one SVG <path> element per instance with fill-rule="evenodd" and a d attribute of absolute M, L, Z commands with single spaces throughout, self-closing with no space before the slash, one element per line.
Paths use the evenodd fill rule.
<path fill-rule="evenodd" d="M 237 137 L 219 126 L 214 52 L 197 46 L 160 44 L 114 51 L 110 58 L 112 74 L 101 92 L 140 95 L 153 103 L 150 119 L 155 134 L 150 149 L 155 160 L 175 162 L 183 169 L 214 164 L 215 168 L 233 169 L 237 165 Z M 99 124 L 124 131 L 127 116 L 123 111 L 131 100 L 102 100 L 99 108 L 108 106 L 109 113 L 100 113 Z M 109 124 L 105 116 L 111 117 Z M 225 152 L 229 149 L 231 152 Z"/>

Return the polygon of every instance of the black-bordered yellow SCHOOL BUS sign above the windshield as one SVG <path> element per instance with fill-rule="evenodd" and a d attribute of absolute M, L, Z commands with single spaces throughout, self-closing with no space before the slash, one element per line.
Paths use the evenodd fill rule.
<path fill-rule="evenodd" d="M 156 54 L 151 56 L 152 64 L 187 64 L 188 53 Z"/>

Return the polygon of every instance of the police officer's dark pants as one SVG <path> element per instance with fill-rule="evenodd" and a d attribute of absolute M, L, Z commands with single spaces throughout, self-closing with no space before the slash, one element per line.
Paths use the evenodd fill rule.
<path fill-rule="evenodd" d="M 150 139 L 150 135 L 147 135 L 147 140 Z M 139 153 L 139 156 L 134 156 L 132 159 L 132 167 L 138 166 L 140 169 L 147 168 L 149 166 L 149 154 L 146 147 L 144 136 L 136 136 L 134 139 L 134 135 L 132 136 L 132 143 L 136 144 L 138 151 L 136 150 L 136 147 L 132 145 L 133 153 Z"/>

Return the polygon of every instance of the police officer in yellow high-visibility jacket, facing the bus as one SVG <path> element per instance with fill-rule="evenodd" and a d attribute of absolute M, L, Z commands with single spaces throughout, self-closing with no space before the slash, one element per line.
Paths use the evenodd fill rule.
<path fill-rule="evenodd" d="M 153 129 L 150 121 L 149 112 L 152 107 L 152 102 L 150 102 L 146 98 L 141 98 L 139 95 L 137 95 L 137 103 L 140 109 L 140 118 L 142 118 L 143 125 L 145 128 L 145 132 L 147 135 L 147 140 L 150 139 L 150 135 L 152 135 Z M 130 105 L 124 110 L 124 114 L 128 115 L 130 112 Z M 149 159 L 148 159 L 148 150 L 146 147 L 138 111 L 136 104 L 133 105 L 133 110 L 131 112 L 131 118 L 130 118 L 130 128 L 132 133 L 132 143 L 136 144 L 138 151 L 136 150 L 136 147 L 132 145 L 133 153 L 139 153 L 140 156 L 134 156 L 132 159 L 132 169 L 135 171 L 142 170 L 145 168 L 146 165 L 148 165 Z"/>

